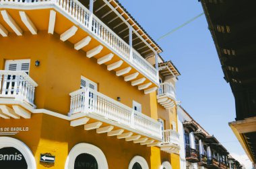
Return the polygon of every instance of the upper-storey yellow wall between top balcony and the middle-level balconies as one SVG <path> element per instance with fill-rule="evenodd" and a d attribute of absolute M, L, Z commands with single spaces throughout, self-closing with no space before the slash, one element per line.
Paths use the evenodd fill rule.
<path fill-rule="evenodd" d="M 35 93 L 37 108 L 67 114 L 69 112 L 69 93 L 80 88 L 80 77 L 98 83 L 98 91 L 106 96 L 132 107 L 135 100 L 142 105 L 142 112 L 148 116 L 150 95 L 131 86 L 131 82 L 117 77 L 115 71 L 108 71 L 106 65 L 98 65 L 96 59 L 88 59 L 86 53 L 74 50 L 73 44 L 62 42 L 59 36 L 50 36 L 46 31 L 33 36 L 28 32 L 18 37 L 9 34 L 9 38 L 0 38 L 1 69 L 9 59 L 30 59 L 30 77 L 38 83 Z M 13 50 L 15 49 L 15 50 Z M 40 66 L 34 66 L 35 61 Z M 156 113 L 156 112 L 154 112 Z"/>

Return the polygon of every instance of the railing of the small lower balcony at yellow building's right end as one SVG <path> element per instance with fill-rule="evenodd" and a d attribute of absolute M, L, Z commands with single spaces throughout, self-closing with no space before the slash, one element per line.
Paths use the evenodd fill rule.
<path fill-rule="evenodd" d="M 164 130 L 163 135 L 163 144 L 176 144 L 179 145 L 179 133 L 171 129 Z"/>

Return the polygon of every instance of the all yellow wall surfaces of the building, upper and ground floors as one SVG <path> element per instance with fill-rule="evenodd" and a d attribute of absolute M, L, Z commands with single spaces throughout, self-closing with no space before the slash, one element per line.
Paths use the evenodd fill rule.
<path fill-rule="evenodd" d="M 23 36 L 10 33 L 8 38 L 0 37 L 0 69 L 4 69 L 5 61 L 10 59 L 30 59 L 30 77 L 38 83 L 35 93 L 37 108 L 59 112 L 69 112 L 69 93 L 79 89 L 80 76 L 98 83 L 98 91 L 117 99 L 121 103 L 132 106 L 135 100 L 142 105 L 142 112 L 154 119 L 164 119 L 166 128 L 169 121 L 177 122 L 176 110 L 168 112 L 156 100 L 156 92 L 143 94 L 131 82 L 117 77 L 115 71 L 107 71 L 106 65 L 98 65 L 96 59 L 88 59 L 83 50 L 74 50 L 70 42 L 62 42 L 59 35 L 49 35 L 46 31 L 38 31 L 36 36 L 24 32 Z M 93 44 L 95 45 L 95 44 Z M 92 48 L 92 46 L 91 46 Z M 103 55 L 103 54 L 102 54 Z M 35 61 L 40 66 L 34 66 Z M 117 137 L 96 134 L 95 130 L 85 131 L 83 126 L 70 127 L 70 122 L 46 114 L 32 114 L 31 119 L 0 119 L 0 127 L 30 127 L 28 132 L 20 132 L 12 137 L 20 139 L 32 150 L 38 168 L 47 168 L 40 164 L 40 154 L 51 153 L 56 156 L 52 168 L 64 168 L 70 149 L 77 143 L 92 143 L 104 152 L 109 168 L 128 168 L 134 156 L 146 158 L 150 168 L 159 168 L 164 161 L 179 168 L 179 156 L 160 151 L 159 147 L 147 147 Z M 175 165 L 175 166 L 173 166 Z"/>

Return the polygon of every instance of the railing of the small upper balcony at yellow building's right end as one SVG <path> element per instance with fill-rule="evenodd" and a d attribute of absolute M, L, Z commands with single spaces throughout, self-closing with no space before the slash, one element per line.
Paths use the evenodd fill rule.
<path fill-rule="evenodd" d="M 175 94 L 175 88 L 172 86 L 172 84 L 164 82 L 160 83 L 160 86 L 158 88 L 158 96 L 166 95 L 169 98 L 172 98 L 175 100 L 176 94 Z"/>

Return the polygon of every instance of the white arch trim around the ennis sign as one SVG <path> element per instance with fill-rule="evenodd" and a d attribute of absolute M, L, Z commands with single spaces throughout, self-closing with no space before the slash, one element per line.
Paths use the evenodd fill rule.
<path fill-rule="evenodd" d="M 18 149 L 24 156 L 28 169 L 36 169 L 36 160 L 34 159 L 34 155 L 25 143 L 11 137 L 0 137 L 0 149 L 4 147 L 13 147 Z"/>

